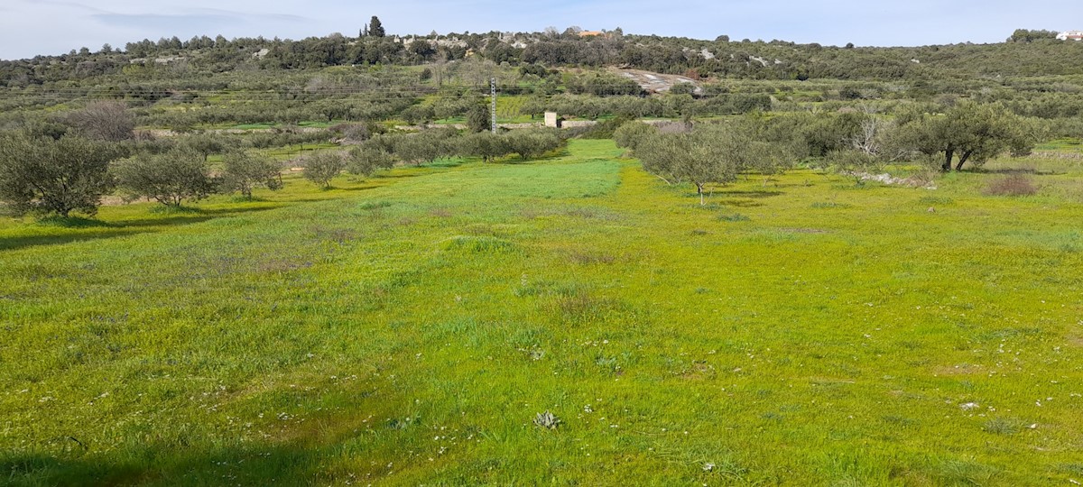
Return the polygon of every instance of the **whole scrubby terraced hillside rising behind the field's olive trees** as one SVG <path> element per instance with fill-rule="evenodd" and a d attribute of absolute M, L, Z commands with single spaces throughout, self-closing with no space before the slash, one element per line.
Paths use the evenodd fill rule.
<path fill-rule="evenodd" d="M 679 75 L 668 92 L 621 68 Z M 1078 136 L 1083 43 L 1019 35 L 999 44 L 835 48 L 565 34 L 446 35 L 300 41 L 161 39 L 64 56 L 0 62 L 0 127 L 120 100 L 148 129 L 253 123 L 461 121 L 488 94 L 510 96 L 503 122 L 543 111 L 599 117 L 712 117 L 898 102 L 1000 102 Z M 645 89 L 644 89 L 645 88 Z M 651 95 L 651 96 L 648 96 Z M 586 97 L 584 97 L 586 96 Z M 443 102 L 443 103 L 434 103 Z M 430 110 L 428 107 L 432 107 Z"/>

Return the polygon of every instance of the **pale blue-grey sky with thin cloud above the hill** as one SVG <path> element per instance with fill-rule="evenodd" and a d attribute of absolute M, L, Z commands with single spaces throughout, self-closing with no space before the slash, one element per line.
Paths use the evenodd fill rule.
<path fill-rule="evenodd" d="M 1083 29 L 1083 0 L 0 0 L 0 58 L 144 38 L 219 34 L 300 39 L 389 34 L 622 27 L 628 34 L 841 45 L 1000 42 L 1016 28 Z"/>

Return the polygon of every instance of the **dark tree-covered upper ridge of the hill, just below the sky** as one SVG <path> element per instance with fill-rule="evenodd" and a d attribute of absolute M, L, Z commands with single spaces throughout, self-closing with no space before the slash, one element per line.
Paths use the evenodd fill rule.
<path fill-rule="evenodd" d="M 60 56 L 0 62 L 0 84 L 17 88 L 122 74 L 146 66 L 222 73 L 235 69 L 312 69 L 341 65 L 420 65 L 479 56 L 511 65 L 623 66 L 735 79 L 939 79 L 1048 76 L 1083 71 L 1083 43 L 1046 31 L 1019 30 L 1003 43 L 912 48 L 825 47 L 781 40 L 731 41 L 624 35 L 448 34 L 347 37 L 298 41 L 264 38 L 175 37 L 129 42 L 122 50 L 83 48 Z"/>

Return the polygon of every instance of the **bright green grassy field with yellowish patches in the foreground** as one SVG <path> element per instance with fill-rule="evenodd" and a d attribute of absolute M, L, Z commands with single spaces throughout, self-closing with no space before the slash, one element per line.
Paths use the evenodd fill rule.
<path fill-rule="evenodd" d="M 1083 482 L 1078 161 L 701 207 L 619 156 L 3 221 L 0 483 Z"/>

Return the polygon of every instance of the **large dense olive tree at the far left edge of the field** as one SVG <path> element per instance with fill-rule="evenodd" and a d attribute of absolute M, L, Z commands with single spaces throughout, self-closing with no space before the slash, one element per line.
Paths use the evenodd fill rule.
<path fill-rule="evenodd" d="M 0 136 L 0 200 L 17 214 L 93 215 L 113 190 L 109 161 L 121 150 L 82 137 Z"/>

